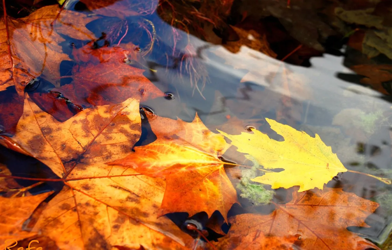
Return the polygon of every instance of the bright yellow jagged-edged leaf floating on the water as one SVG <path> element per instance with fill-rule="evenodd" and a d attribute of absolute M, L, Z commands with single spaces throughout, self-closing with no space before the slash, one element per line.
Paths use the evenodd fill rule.
<path fill-rule="evenodd" d="M 347 171 L 318 134 L 311 137 L 289 125 L 266 120 L 271 129 L 283 136 L 284 141 L 271 139 L 256 129 L 252 129 L 253 134 L 242 132 L 240 135 L 229 135 L 218 130 L 238 147 L 239 152 L 252 155 L 264 169 L 284 169 L 281 172 L 266 172 L 252 181 L 269 184 L 272 188 L 299 186 L 299 192 L 302 192 L 312 188 L 323 189 L 324 184 L 339 172 Z"/>

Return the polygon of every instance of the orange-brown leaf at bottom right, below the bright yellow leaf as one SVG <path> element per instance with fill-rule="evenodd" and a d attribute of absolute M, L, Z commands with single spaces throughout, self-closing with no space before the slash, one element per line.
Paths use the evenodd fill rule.
<path fill-rule="evenodd" d="M 263 239 L 265 234 L 289 239 L 295 236 L 299 247 L 294 249 L 379 249 L 346 229 L 348 226 L 367 226 L 366 217 L 377 207 L 377 203 L 343 192 L 341 188 L 294 191 L 292 201 L 276 204 L 276 210 L 269 215 L 240 214 L 231 217 L 232 228 L 228 238 L 222 238 L 221 244 L 242 238 L 242 246 L 247 247 L 260 244 L 258 240 Z M 231 230 L 234 232 L 231 233 Z"/>

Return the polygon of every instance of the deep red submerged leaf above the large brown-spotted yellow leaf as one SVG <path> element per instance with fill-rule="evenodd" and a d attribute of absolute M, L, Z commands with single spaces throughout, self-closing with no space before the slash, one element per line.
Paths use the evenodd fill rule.
<path fill-rule="evenodd" d="M 89 43 L 74 49 L 76 62 L 73 82 L 54 89 L 75 104 L 85 107 L 120 103 L 128 98 L 138 100 L 163 97 L 163 93 L 144 75 L 145 69 L 128 65 L 139 60 L 138 53 L 121 47 L 93 48 Z"/>

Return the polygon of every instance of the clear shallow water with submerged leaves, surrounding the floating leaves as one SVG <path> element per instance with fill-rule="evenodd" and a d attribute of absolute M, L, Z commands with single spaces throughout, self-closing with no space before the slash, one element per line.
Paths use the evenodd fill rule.
<path fill-rule="evenodd" d="M 353 42 L 348 44 L 347 40 L 357 33 L 350 33 L 350 20 L 343 15 L 327 15 L 340 17 L 342 25 L 346 22 L 347 31 L 340 33 L 331 26 L 332 21 L 317 19 L 314 26 L 309 26 L 312 15 L 308 19 L 306 15 L 296 17 L 295 25 L 287 23 L 295 11 L 297 15 L 305 10 L 316 11 L 312 4 L 291 3 L 294 10 L 290 11 L 286 6 L 290 1 L 284 1 L 284 8 L 282 3 L 276 5 L 272 1 L 265 1 L 270 8 L 262 8 L 263 4 L 247 7 L 240 5 L 241 1 L 216 1 L 209 7 L 198 1 L 185 2 L 181 5 L 180 1 L 171 0 L 68 0 L 59 16 L 57 5 L 42 4 L 32 12 L 35 16 L 29 9 L 17 13 L 14 9 L 20 6 L 6 6 L 9 20 L 14 22 L 9 24 L 13 53 L 27 62 L 33 78 L 24 84 L 24 90 L 9 85 L 0 91 L 0 134 L 12 138 L 18 131 L 16 124 L 24 112 L 23 99 L 27 94 L 31 103 L 58 122 L 66 122 L 96 106 L 111 105 L 115 109 L 128 98 L 140 100 L 142 129 L 134 147 L 157 140 L 151 125 L 154 118 L 192 122 L 196 114 L 214 133 L 219 129 L 236 135 L 257 129 L 283 141 L 270 128 L 266 121 L 269 118 L 313 137 L 318 134 L 332 148 L 352 172 L 339 173 L 325 187 L 341 188 L 379 203 L 375 212 L 364 218 L 368 227 L 347 225 L 347 229 L 375 243 L 385 241 L 392 222 L 392 188 L 356 172 L 392 177 L 390 59 L 379 51 L 378 56 L 369 59 L 353 49 Z M 230 3 L 237 9 L 232 7 L 230 11 Z M 250 9 L 253 5 L 261 8 L 263 14 L 255 14 L 257 11 Z M 190 13 L 192 9 L 194 12 Z M 274 11 L 277 9 L 282 12 Z M 385 27 L 381 26 L 379 29 L 383 30 Z M 310 37 L 313 29 L 322 35 L 301 37 L 304 32 Z M 363 29 L 373 32 L 371 28 Z M 345 37 L 346 33 L 349 35 Z M 24 39 L 33 41 L 32 47 L 18 42 Z M 42 42 L 37 45 L 36 39 Z M 366 65 L 370 69 L 365 69 Z M 386 76 L 381 79 L 382 74 Z M 159 129 L 170 130 L 171 126 L 162 125 Z M 137 154 L 131 146 L 129 151 Z M 11 150 L 16 146 L 8 147 L 0 146 L 0 167 L 6 166 L 9 174 L 22 177 L 8 181 L 9 187 L 29 187 L 41 179 L 60 178 L 41 161 L 20 154 L 20 150 Z M 233 187 L 237 187 L 246 168 L 235 165 L 249 163 L 249 159 L 234 146 L 219 157 L 226 163 L 225 171 Z M 5 167 L 0 170 L 0 174 L 6 172 Z M 274 169 L 283 171 L 284 166 Z M 0 192 L 7 194 L 1 188 Z M 48 181 L 29 192 L 60 192 L 62 188 L 60 181 Z M 271 190 L 269 185 L 266 188 Z M 287 203 L 293 190 L 276 189 L 272 201 Z M 275 209 L 272 204 L 254 205 L 240 196 L 238 188 L 237 192 L 241 205 L 234 204 L 228 217 L 246 213 L 267 215 Z M 188 218 L 187 213 L 180 212 L 167 217 L 184 232 L 199 238 L 209 234 L 210 240 L 218 238 L 219 232 L 212 227 L 207 232 L 204 227 L 209 223 L 207 214 L 200 211 Z M 216 213 L 213 217 L 220 218 Z M 223 224 L 221 230 L 227 232 L 228 228 Z"/>

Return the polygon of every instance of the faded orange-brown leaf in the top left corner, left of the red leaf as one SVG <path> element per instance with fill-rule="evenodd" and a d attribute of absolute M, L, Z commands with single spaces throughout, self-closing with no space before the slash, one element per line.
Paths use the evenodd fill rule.
<path fill-rule="evenodd" d="M 51 5 L 38 9 L 25 18 L 15 20 L 6 17 L 0 21 L 0 69 L 3 72 L 0 91 L 15 85 L 21 94 L 25 85 L 41 74 L 48 80 L 58 78 L 60 63 L 62 60 L 70 60 L 62 52 L 60 43 L 65 40 L 60 34 L 83 40 L 95 38 L 84 25 L 80 25 L 94 18 L 63 10 L 56 19 L 59 11 L 57 5 Z"/>

